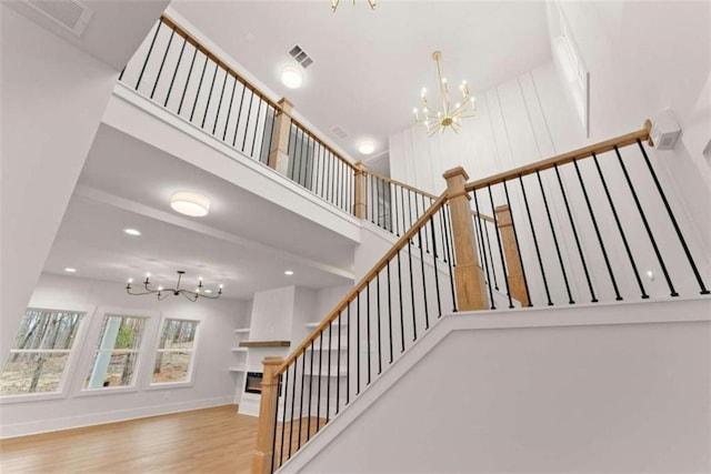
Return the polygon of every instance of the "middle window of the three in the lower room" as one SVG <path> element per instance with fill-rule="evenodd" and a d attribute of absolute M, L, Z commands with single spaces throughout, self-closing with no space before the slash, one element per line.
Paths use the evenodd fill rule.
<path fill-rule="evenodd" d="M 107 314 L 84 389 L 133 385 L 147 317 Z"/>

